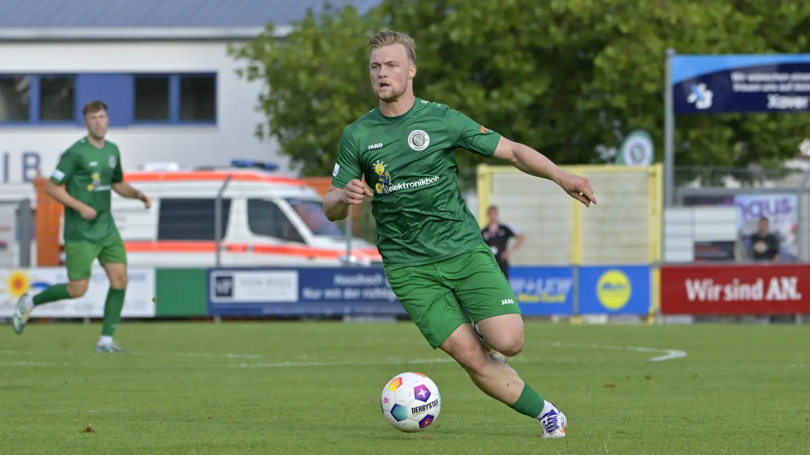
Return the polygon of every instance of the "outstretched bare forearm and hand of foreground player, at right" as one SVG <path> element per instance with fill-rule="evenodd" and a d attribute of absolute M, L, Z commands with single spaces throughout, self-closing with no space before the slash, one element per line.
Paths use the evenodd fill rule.
<path fill-rule="evenodd" d="M 591 203 L 596 203 L 594 189 L 590 187 L 590 182 L 586 177 L 565 172 L 552 163 L 551 159 L 546 158 L 542 153 L 531 147 L 501 137 L 498 140 L 498 147 L 495 149 L 493 156 L 509 161 L 515 168 L 531 176 L 553 181 L 560 185 L 565 190 L 565 193 L 582 202 L 585 206 L 590 207 Z"/>

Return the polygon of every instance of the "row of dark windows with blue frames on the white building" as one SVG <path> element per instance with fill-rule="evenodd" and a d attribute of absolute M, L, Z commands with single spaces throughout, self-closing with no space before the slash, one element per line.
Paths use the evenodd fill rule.
<path fill-rule="evenodd" d="M 102 100 L 110 126 L 215 125 L 216 74 L 0 74 L 0 125 L 83 125 Z"/>

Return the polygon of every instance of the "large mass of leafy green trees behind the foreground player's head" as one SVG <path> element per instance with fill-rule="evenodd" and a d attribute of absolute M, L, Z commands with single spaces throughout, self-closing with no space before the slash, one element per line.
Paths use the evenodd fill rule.
<path fill-rule="evenodd" d="M 649 130 L 663 147 L 667 48 L 679 53 L 807 50 L 810 6 L 799 0 L 383 0 L 369 15 L 328 9 L 234 49 L 261 99 L 262 137 L 279 140 L 307 175 L 328 175 L 343 127 L 376 104 L 367 37 L 387 27 L 416 39 L 416 95 L 449 104 L 562 164 L 599 162 L 595 147 Z M 677 120 L 676 163 L 776 164 L 806 134 L 799 115 Z M 659 153 L 659 157 L 660 157 Z M 458 154 L 469 166 L 481 158 Z"/>

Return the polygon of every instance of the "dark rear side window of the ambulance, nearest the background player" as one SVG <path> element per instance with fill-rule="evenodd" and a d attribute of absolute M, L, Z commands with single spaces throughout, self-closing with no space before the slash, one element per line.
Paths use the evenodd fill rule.
<path fill-rule="evenodd" d="M 222 200 L 222 236 L 228 231 L 231 200 Z M 160 199 L 157 240 L 205 240 L 215 238 L 215 199 Z"/>

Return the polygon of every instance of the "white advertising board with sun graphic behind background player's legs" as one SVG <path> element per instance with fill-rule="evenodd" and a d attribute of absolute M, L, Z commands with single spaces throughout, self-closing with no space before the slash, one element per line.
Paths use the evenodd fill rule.
<path fill-rule="evenodd" d="M 130 269 L 122 317 L 155 317 L 155 270 Z M 47 287 L 67 283 L 64 268 L 0 270 L 0 317 L 12 317 L 19 297 L 36 295 Z M 109 279 L 102 269 L 93 269 L 87 294 L 34 308 L 32 317 L 103 317 Z"/>

